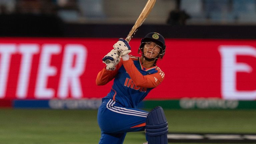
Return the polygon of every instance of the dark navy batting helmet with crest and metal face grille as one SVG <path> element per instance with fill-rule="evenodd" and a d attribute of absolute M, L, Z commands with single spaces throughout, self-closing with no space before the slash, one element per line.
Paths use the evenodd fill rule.
<path fill-rule="evenodd" d="M 148 42 L 154 42 L 154 43 L 156 43 L 155 46 L 160 47 L 160 52 L 158 52 L 159 55 L 157 57 L 152 57 L 152 58 L 162 59 L 165 54 L 165 48 L 166 48 L 164 37 L 162 35 L 160 35 L 159 33 L 155 33 L 155 32 L 147 34 L 143 39 L 141 39 L 141 44 L 140 44 L 140 47 L 138 50 L 139 54 L 146 56 L 146 54 L 144 54 L 144 49 L 147 48 L 147 47 L 145 47 L 145 44 Z M 147 48 L 147 50 L 148 50 L 148 48 Z M 152 50 L 153 50 L 152 51 L 153 53 L 157 52 L 157 51 L 154 51 L 154 48 Z M 151 55 L 152 55 L 152 52 L 151 52 Z M 151 55 L 150 55 L 150 57 L 151 57 Z"/>

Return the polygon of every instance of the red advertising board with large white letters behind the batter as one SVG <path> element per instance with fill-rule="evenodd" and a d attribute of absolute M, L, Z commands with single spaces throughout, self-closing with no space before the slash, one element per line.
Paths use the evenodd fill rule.
<path fill-rule="evenodd" d="M 116 38 L 0 38 L 0 99 L 102 98 L 95 83 Z M 137 54 L 140 39 L 130 42 Z M 256 99 L 254 40 L 166 39 L 165 80 L 146 99 Z"/>

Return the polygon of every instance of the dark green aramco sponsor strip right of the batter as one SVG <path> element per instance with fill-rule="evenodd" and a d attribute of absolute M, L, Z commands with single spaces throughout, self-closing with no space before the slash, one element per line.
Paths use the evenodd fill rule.
<path fill-rule="evenodd" d="M 147 100 L 144 108 L 162 106 L 167 109 L 256 109 L 256 101 L 223 100 L 211 98 L 184 98 L 180 100 Z"/>

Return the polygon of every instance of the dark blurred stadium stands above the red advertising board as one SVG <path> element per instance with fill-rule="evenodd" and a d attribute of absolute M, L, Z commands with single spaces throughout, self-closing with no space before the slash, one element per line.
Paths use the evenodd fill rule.
<path fill-rule="evenodd" d="M 145 1 L 1 0 L 0 5 L 1 36 L 123 37 Z M 254 38 L 255 22 L 254 0 L 158 0 L 136 36 L 151 29 L 171 38 Z"/>

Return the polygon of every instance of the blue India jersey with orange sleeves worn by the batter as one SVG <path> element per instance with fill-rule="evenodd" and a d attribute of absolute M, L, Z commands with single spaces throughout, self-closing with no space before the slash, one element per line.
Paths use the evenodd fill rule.
<path fill-rule="evenodd" d="M 99 72 L 96 83 L 105 85 L 114 78 L 111 91 L 103 99 L 113 99 L 124 107 L 137 108 L 147 94 L 164 79 L 164 72 L 154 65 L 151 68 L 142 66 L 141 57 L 130 56 L 127 61 L 121 61 L 116 70 L 105 68 Z"/>

